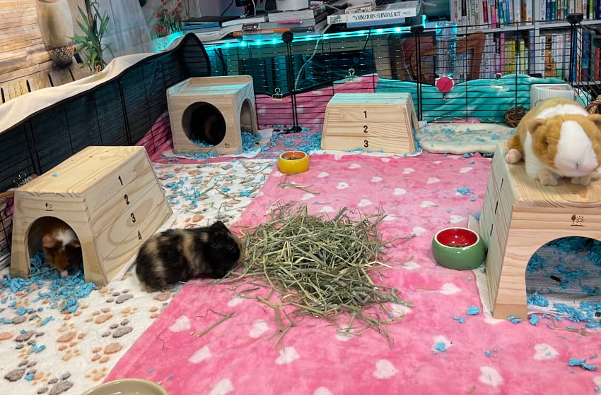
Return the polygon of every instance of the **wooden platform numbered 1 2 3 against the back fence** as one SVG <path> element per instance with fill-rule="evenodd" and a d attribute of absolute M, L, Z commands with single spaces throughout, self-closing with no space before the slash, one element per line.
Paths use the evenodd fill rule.
<path fill-rule="evenodd" d="M 325 110 L 322 150 L 416 150 L 419 128 L 409 93 L 337 93 Z"/>

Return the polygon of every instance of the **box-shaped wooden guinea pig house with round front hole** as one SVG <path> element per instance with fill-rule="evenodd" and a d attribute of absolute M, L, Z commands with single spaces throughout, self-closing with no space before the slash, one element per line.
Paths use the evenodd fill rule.
<path fill-rule="evenodd" d="M 241 129 L 257 135 L 250 75 L 188 78 L 167 90 L 173 152 L 240 154 Z"/>

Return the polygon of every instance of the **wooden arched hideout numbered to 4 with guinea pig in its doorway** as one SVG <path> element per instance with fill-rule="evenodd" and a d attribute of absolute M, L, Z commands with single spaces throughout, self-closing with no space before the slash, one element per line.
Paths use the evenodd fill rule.
<path fill-rule="evenodd" d="M 54 217 L 78 236 L 86 281 L 105 285 L 171 213 L 144 147 L 87 147 L 15 190 L 11 275 L 28 276 Z"/>

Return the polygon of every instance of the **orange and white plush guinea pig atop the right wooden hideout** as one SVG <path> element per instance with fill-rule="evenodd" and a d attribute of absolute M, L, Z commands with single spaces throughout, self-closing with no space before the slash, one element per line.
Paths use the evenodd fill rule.
<path fill-rule="evenodd" d="M 601 176 L 601 114 L 589 114 L 570 99 L 546 99 L 520 121 L 505 159 L 524 159 L 528 176 L 542 185 L 570 177 L 586 186 Z"/>

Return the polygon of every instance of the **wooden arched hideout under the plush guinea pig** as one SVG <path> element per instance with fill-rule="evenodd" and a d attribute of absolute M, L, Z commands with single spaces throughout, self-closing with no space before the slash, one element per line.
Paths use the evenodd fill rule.
<path fill-rule="evenodd" d="M 542 186 L 523 162 L 507 164 L 498 146 L 480 217 L 491 306 L 496 318 L 527 319 L 526 267 L 549 241 L 567 236 L 601 241 L 601 181 L 576 186 L 569 178 Z"/>

